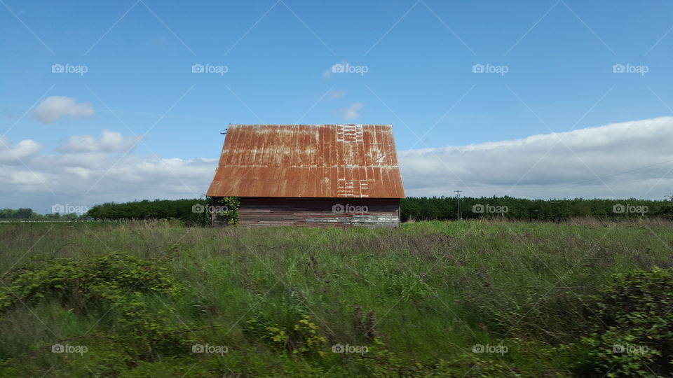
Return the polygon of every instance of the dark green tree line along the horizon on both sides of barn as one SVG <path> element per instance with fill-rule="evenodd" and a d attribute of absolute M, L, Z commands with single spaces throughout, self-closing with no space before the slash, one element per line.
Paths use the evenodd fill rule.
<path fill-rule="evenodd" d="M 460 205 L 460 211 L 458 209 Z M 0 219 L 179 219 L 188 224 L 210 223 L 208 198 L 143 200 L 98 204 L 86 214 L 36 214 L 32 209 L 2 209 Z M 516 197 L 407 197 L 400 202 L 402 221 L 505 218 L 519 221 L 563 221 L 569 218 L 668 218 L 673 219 L 673 197 L 667 200 L 526 200 Z"/>

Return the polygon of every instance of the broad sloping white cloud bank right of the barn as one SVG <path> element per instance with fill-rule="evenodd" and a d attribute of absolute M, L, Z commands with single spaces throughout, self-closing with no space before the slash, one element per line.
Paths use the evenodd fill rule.
<path fill-rule="evenodd" d="M 399 153 L 407 195 L 641 197 L 673 192 L 673 118 Z"/>

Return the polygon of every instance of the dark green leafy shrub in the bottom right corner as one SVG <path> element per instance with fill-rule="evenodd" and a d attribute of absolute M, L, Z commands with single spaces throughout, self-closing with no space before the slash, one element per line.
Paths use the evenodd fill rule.
<path fill-rule="evenodd" d="M 577 371 L 597 377 L 662 377 L 673 373 L 673 272 L 654 268 L 616 274 L 590 297 L 594 332 L 583 337 Z"/>

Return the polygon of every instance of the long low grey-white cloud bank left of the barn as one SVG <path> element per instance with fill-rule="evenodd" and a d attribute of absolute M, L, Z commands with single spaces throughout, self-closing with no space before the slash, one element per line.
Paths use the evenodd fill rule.
<path fill-rule="evenodd" d="M 54 204 L 197 198 L 205 194 L 217 159 L 157 158 L 132 153 L 39 155 L 28 167 L 0 163 L 0 208 L 48 213 Z M 29 195 L 27 196 L 27 193 Z"/>

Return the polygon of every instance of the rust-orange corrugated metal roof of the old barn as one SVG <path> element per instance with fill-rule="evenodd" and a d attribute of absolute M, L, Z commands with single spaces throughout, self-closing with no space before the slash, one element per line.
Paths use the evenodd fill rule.
<path fill-rule="evenodd" d="M 229 125 L 215 197 L 404 198 L 391 125 Z"/>

